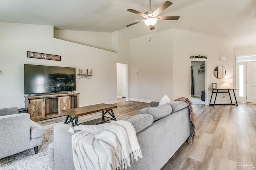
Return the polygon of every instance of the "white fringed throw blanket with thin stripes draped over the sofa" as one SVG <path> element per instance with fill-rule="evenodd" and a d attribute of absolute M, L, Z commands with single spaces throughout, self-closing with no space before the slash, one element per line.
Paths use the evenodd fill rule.
<path fill-rule="evenodd" d="M 122 170 L 130 161 L 142 158 L 136 131 L 129 121 L 100 125 L 79 125 L 72 135 L 76 170 Z"/>

